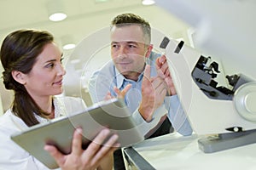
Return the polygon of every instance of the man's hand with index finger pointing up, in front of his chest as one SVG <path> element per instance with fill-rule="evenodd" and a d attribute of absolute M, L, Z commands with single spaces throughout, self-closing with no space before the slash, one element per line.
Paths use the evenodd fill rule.
<path fill-rule="evenodd" d="M 154 111 L 163 104 L 166 85 L 162 77 L 150 77 L 150 65 L 146 65 L 142 82 L 142 101 L 138 111 L 146 122 L 152 120 Z"/>

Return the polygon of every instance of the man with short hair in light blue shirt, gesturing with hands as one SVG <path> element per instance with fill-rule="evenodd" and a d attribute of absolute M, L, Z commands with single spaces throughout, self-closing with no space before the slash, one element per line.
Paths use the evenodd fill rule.
<path fill-rule="evenodd" d="M 90 78 L 92 101 L 124 96 L 145 139 L 171 133 L 169 120 L 178 133 L 190 135 L 192 128 L 177 98 L 166 57 L 152 52 L 149 23 L 135 14 L 119 14 L 112 21 L 110 37 L 113 60 Z"/>

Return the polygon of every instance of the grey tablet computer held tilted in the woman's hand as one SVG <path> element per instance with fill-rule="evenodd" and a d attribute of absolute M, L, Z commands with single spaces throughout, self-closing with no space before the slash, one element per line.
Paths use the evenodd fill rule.
<path fill-rule="evenodd" d="M 54 144 L 62 153 L 70 153 L 76 127 L 83 129 L 84 149 L 104 127 L 108 127 L 112 133 L 119 135 L 118 141 L 121 147 L 144 139 L 123 99 L 110 99 L 96 103 L 85 111 L 59 117 L 30 127 L 26 131 L 15 133 L 11 139 L 45 166 L 56 168 L 58 165 L 54 158 L 44 150 L 44 145 Z"/>

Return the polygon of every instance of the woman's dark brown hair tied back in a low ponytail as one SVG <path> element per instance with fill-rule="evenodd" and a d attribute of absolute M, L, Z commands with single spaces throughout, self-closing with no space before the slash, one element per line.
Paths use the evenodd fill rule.
<path fill-rule="evenodd" d="M 29 73 L 38 55 L 44 50 L 44 46 L 53 41 L 54 37 L 47 31 L 18 30 L 5 37 L 1 47 L 3 83 L 6 89 L 15 91 L 11 109 L 29 127 L 39 123 L 35 114 L 44 117 L 49 113 L 42 111 L 27 93 L 24 85 L 15 81 L 12 71 Z"/>

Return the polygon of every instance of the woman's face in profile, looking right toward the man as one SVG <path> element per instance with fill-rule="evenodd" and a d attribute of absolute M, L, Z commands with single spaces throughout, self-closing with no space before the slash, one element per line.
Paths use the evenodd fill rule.
<path fill-rule="evenodd" d="M 24 75 L 24 86 L 32 98 L 62 93 L 62 79 L 66 71 L 61 64 L 61 56 L 54 42 L 44 46 L 32 71 Z"/>

